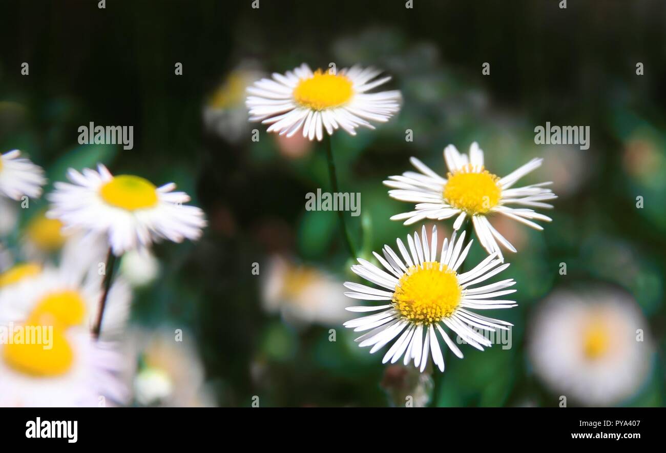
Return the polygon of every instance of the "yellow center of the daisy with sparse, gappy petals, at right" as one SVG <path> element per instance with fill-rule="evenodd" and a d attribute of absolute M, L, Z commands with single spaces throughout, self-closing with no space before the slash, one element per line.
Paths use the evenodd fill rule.
<path fill-rule="evenodd" d="M 444 200 L 470 215 L 486 214 L 500 202 L 500 178 L 487 170 L 472 171 L 471 165 L 447 175 Z"/>

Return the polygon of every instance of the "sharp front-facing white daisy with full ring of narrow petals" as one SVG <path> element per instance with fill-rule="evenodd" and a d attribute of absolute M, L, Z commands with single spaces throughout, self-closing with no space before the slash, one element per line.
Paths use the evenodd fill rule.
<path fill-rule="evenodd" d="M 484 350 L 484 346 L 490 346 L 491 342 L 475 328 L 494 332 L 496 328 L 507 330 L 512 325 L 472 311 L 516 306 L 513 300 L 496 299 L 515 292 L 514 289 L 505 289 L 513 286 L 515 281 L 509 278 L 476 286 L 509 266 L 501 264 L 497 253 L 487 256 L 472 270 L 458 274 L 456 270 L 464 262 L 472 245 L 470 240 L 463 249 L 465 233 L 456 240 L 454 231 L 450 241 L 444 239 L 439 260 L 436 227 L 432 228 L 430 244 L 426 227 L 422 228 L 421 237 L 416 232 L 413 238 L 407 236 L 409 252 L 398 239 L 400 256 L 388 245 L 382 250 L 383 257 L 373 252 L 384 269 L 358 258 L 360 264 L 352 266 L 352 271 L 386 288 L 377 289 L 354 282 L 344 284 L 353 291 L 346 292 L 346 296 L 386 301 L 386 304 L 378 306 L 347 308 L 352 312 L 377 312 L 344 323 L 345 327 L 353 328 L 355 332 L 367 331 L 356 338 L 360 342 L 359 346 L 372 346 L 372 354 L 398 338 L 384 355 L 383 363 L 394 363 L 404 355 L 405 365 L 414 360 L 414 365 L 420 366 L 423 371 L 432 354 L 434 363 L 444 371 L 444 356 L 438 334 L 456 356 L 462 358 L 462 352 L 442 328 L 442 324 L 479 350 Z"/>

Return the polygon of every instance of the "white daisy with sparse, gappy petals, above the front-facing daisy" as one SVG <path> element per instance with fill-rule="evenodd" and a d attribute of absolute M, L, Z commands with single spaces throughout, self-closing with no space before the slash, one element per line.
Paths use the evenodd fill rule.
<path fill-rule="evenodd" d="M 512 187 L 521 177 L 537 169 L 543 159 L 532 159 L 500 178 L 486 170 L 484 152 L 474 142 L 469 156 L 449 145 L 444 149 L 444 161 L 449 169 L 446 178 L 412 157 L 410 162 L 419 173 L 408 171 L 402 176 L 392 176 L 384 181 L 384 185 L 393 188 L 388 191 L 390 197 L 417 203 L 415 211 L 394 215 L 391 220 L 405 221 L 404 225 L 411 225 L 422 219 L 442 220 L 456 216 L 454 229 L 458 230 L 466 218 L 471 218 L 482 246 L 488 253 L 497 253 L 500 258 L 502 254 L 499 244 L 512 252 L 515 252 L 515 248 L 491 225 L 489 217 L 500 214 L 537 230 L 543 230 L 543 227 L 534 220 L 551 221 L 550 217 L 531 209 L 553 207 L 543 203 L 557 198 L 550 189 L 545 189 L 551 183 Z"/>

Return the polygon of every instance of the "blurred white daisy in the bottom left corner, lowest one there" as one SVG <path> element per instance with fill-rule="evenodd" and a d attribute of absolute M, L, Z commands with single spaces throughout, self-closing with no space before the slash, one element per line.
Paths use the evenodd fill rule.
<path fill-rule="evenodd" d="M 21 328 L 29 332 L 26 326 L 47 327 L 0 324 L 0 332 L 16 336 Z M 123 361 L 110 344 L 96 342 L 83 328 L 53 327 L 41 338 L 39 343 L 0 342 L 0 406 L 97 407 L 127 398 L 118 374 Z"/>

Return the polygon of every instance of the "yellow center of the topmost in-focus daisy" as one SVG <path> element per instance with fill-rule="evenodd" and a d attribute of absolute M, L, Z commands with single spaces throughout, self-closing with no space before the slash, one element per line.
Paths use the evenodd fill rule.
<path fill-rule="evenodd" d="M 302 79 L 294 89 L 294 100 L 313 110 L 338 107 L 354 94 L 352 81 L 344 75 L 332 75 L 317 69 L 310 79 Z"/>

